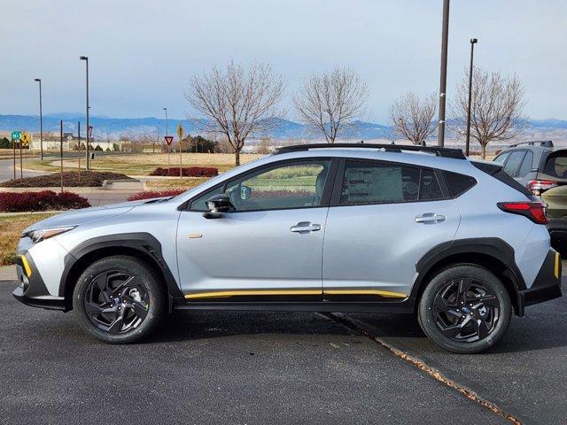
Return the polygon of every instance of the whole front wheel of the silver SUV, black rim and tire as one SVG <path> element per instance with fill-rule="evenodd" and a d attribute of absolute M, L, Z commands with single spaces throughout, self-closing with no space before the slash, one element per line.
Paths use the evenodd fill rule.
<path fill-rule="evenodd" d="M 76 320 L 89 335 L 128 344 L 151 334 L 166 312 L 159 274 L 144 260 L 99 259 L 82 272 L 73 292 Z"/>

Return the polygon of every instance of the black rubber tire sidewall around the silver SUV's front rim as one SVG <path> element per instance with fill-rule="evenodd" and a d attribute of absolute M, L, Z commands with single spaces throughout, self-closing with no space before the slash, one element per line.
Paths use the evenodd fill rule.
<path fill-rule="evenodd" d="M 144 321 L 135 329 L 125 334 L 109 334 L 104 330 L 97 328 L 89 319 L 84 308 L 84 298 L 89 283 L 98 275 L 107 271 L 119 271 L 128 274 L 134 274 L 141 282 L 144 283 L 145 289 L 148 291 L 149 307 L 148 313 Z M 118 257 L 100 259 L 85 269 L 79 277 L 73 292 L 73 308 L 74 314 L 89 335 L 95 336 L 97 339 L 110 344 L 128 344 L 138 341 L 151 333 L 151 330 L 157 326 L 159 320 L 163 316 L 164 310 L 163 290 L 159 282 L 158 276 L 147 267 L 143 261 L 135 258 Z"/>

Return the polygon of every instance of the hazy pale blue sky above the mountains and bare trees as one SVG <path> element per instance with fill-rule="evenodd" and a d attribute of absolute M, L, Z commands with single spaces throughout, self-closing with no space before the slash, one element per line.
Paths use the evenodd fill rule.
<path fill-rule="evenodd" d="M 0 113 L 84 110 L 170 116 L 188 111 L 188 76 L 230 58 L 268 61 L 288 81 L 352 66 L 368 81 L 368 120 L 386 122 L 394 97 L 439 90 L 441 0 L 2 0 Z M 567 119 L 567 2 L 453 0 L 448 90 L 462 78 L 469 39 L 476 64 L 517 73 L 532 118 Z M 290 118 L 295 118 L 290 113 Z"/>

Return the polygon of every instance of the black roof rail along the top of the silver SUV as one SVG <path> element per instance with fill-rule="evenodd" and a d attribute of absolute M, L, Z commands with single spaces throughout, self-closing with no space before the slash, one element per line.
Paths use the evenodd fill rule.
<path fill-rule="evenodd" d="M 309 151 L 310 149 L 337 149 L 337 148 L 355 148 L 355 149 L 381 149 L 386 152 L 401 151 L 418 151 L 431 152 L 438 157 L 466 159 L 464 153 L 460 149 L 438 148 L 435 146 L 418 146 L 408 144 L 375 144 L 375 143 L 311 143 L 311 144 L 295 144 L 292 146 L 283 146 L 276 149 L 273 155 L 287 152 Z"/>

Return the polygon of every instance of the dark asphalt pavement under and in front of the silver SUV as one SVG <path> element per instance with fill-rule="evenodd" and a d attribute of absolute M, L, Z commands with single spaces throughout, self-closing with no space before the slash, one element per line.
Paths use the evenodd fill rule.
<path fill-rule="evenodd" d="M 73 313 L 20 305 L 15 284 L 0 282 L 2 424 L 567 418 L 567 298 L 530 307 L 491 351 L 463 356 L 391 314 L 179 312 L 144 344 L 106 345 Z"/>

